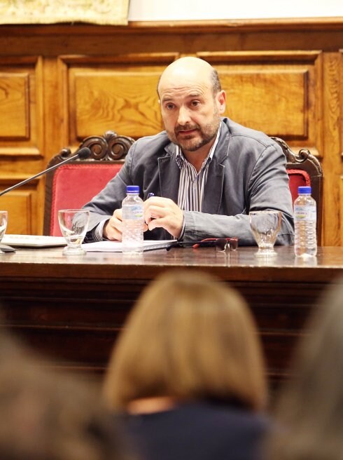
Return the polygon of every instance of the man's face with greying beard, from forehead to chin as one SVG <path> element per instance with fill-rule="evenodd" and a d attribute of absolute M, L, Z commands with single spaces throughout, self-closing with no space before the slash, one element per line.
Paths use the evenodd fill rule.
<path fill-rule="evenodd" d="M 160 104 L 169 139 L 183 152 L 197 151 L 216 137 L 220 113 L 225 109 L 225 93 L 214 96 L 209 79 L 185 79 L 181 84 L 164 81 Z"/>

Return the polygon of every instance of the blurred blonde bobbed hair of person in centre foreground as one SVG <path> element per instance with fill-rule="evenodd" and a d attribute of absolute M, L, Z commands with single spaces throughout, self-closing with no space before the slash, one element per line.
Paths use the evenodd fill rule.
<path fill-rule="evenodd" d="M 266 397 L 262 351 L 246 302 L 205 273 L 160 276 L 118 337 L 104 393 L 116 410 L 159 396 L 228 400 L 260 410 Z"/>

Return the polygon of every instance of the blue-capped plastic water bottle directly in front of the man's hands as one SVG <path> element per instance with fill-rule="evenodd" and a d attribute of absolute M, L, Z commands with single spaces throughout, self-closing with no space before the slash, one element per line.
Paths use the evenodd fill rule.
<path fill-rule="evenodd" d="M 139 254 L 143 252 L 144 208 L 139 197 L 138 185 L 127 185 L 127 196 L 123 199 L 123 252 Z"/>

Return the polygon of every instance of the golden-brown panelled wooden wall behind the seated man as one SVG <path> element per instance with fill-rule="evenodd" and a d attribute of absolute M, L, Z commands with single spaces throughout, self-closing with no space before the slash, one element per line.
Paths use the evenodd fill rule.
<path fill-rule="evenodd" d="M 342 19 L 342 18 L 341 18 Z M 182 55 L 214 65 L 227 115 L 323 164 L 323 243 L 343 243 L 343 20 L 0 27 L 0 190 L 62 148 L 162 130 L 156 86 Z M 0 198 L 8 233 L 41 234 L 44 180 Z"/>

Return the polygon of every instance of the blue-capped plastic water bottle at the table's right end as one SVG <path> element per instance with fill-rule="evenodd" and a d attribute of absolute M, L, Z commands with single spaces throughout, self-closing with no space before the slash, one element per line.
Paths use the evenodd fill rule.
<path fill-rule="evenodd" d="M 298 257 L 311 257 L 317 253 L 316 201 L 311 197 L 311 187 L 298 187 L 299 196 L 294 202 L 295 243 Z"/>

